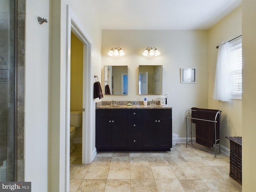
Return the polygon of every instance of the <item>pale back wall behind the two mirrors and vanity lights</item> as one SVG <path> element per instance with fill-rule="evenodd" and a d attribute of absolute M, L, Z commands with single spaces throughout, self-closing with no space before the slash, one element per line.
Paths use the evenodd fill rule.
<path fill-rule="evenodd" d="M 116 46 L 124 50 L 124 56 L 108 56 L 108 51 Z M 161 54 L 143 56 L 143 51 L 151 46 Z M 208 107 L 207 50 L 207 30 L 102 30 L 102 77 L 106 65 L 128 66 L 128 95 L 104 95 L 102 100 L 144 100 L 145 95 L 138 95 L 139 65 L 162 65 L 163 95 L 169 92 L 168 105 L 173 107 L 172 129 L 185 138 L 186 110 Z M 180 83 L 180 68 L 189 67 L 196 68 L 196 83 Z M 147 99 L 160 100 L 160 96 L 148 95 Z"/>

